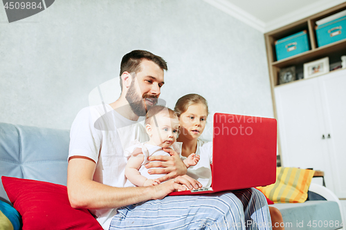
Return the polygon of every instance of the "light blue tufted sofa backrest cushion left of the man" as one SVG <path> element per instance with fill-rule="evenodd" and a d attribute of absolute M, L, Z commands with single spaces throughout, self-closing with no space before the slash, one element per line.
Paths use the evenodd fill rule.
<path fill-rule="evenodd" d="M 66 185 L 68 155 L 67 130 L 0 123 L 0 175 Z"/>

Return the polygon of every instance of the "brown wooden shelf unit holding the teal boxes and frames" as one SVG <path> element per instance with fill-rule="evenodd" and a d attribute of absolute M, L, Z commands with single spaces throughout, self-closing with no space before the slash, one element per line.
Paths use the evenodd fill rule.
<path fill-rule="evenodd" d="M 273 99 L 273 107 L 274 107 L 274 117 L 277 119 L 277 111 L 274 97 L 274 88 L 279 86 L 278 76 L 280 75 L 280 69 L 287 68 L 290 66 L 295 66 L 296 73 L 303 73 L 304 63 L 314 61 L 317 59 L 321 59 L 323 57 L 329 57 L 329 64 L 333 64 L 336 61 L 341 61 L 340 57 L 346 55 L 346 39 L 334 42 L 333 44 L 328 44 L 326 46 L 317 47 L 317 39 L 316 39 L 316 21 L 328 17 L 330 15 L 334 15 L 337 12 L 346 10 L 346 2 L 339 4 L 338 6 L 334 6 L 322 12 L 319 12 L 315 15 L 311 15 L 310 17 L 301 19 L 299 21 L 295 21 L 287 26 L 282 28 L 278 28 L 271 32 L 267 32 L 264 35 L 264 39 L 266 41 L 266 53 L 268 59 L 268 70 L 271 84 L 271 95 Z M 303 52 L 299 55 L 295 55 L 293 57 L 289 57 L 286 59 L 282 59 L 280 61 L 276 60 L 276 52 L 275 52 L 275 41 L 278 39 L 282 39 L 289 35 L 293 35 L 296 32 L 301 32 L 302 30 L 307 30 L 308 40 L 310 44 L 310 50 L 307 52 Z M 307 81 L 309 79 L 300 79 L 294 82 Z M 289 82 L 286 84 L 293 84 L 293 82 Z M 280 85 L 283 86 L 284 84 Z M 279 155 L 281 155 L 281 146 L 280 146 L 280 137 L 277 136 L 278 140 L 278 148 Z"/>

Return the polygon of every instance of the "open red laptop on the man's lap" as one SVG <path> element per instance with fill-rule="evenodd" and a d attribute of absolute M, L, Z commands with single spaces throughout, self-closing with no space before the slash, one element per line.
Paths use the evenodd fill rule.
<path fill-rule="evenodd" d="M 212 186 L 169 195 L 216 193 L 275 183 L 276 119 L 215 113 L 213 124 Z"/>

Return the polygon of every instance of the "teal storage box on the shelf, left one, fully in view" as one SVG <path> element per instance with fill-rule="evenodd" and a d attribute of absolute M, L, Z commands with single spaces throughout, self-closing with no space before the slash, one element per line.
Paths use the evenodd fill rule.
<path fill-rule="evenodd" d="M 301 52 L 309 50 L 309 41 L 307 39 L 307 30 L 298 32 L 289 37 L 275 41 L 275 51 L 277 61 Z"/>

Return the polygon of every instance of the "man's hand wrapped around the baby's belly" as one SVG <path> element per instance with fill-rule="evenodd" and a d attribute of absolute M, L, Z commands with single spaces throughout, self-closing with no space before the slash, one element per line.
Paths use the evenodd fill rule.
<path fill-rule="evenodd" d="M 180 159 L 179 154 L 176 153 L 172 148 L 163 148 L 163 151 L 170 153 L 169 156 L 156 155 L 149 157 L 149 162 L 145 164 L 145 168 L 149 169 L 149 174 L 166 174 L 162 178 L 158 178 L 161 182 L 176 178 L 179 175 L 185 175 L 188 169 L 186 168 L 183 161 Z M 162 169 L 152 169 L 162 168 Z"/>

